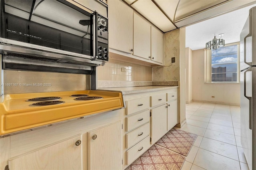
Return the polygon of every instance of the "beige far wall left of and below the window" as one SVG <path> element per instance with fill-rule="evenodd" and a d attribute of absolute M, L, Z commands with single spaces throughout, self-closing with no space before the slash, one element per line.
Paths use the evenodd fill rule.
<path fill-rule="evenodd" d="M 192 56 L 193 101 L 240 105 L 240 84 L 204 83 L 204 49 L 194 50 Z"/>

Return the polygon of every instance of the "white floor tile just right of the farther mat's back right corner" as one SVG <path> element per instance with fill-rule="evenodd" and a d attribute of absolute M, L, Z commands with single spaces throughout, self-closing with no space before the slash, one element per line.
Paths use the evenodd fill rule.
<path fill-rule="evenodd" d="M 206 129 L 206 131 L 204 133 L 204 137 L 218 140 L 221 142 L 225 142 L 228 144 L 236 145 L 235 136 L 232 134 L 227 134 L 227 133 L 222 133 L 222 132 Z"/>

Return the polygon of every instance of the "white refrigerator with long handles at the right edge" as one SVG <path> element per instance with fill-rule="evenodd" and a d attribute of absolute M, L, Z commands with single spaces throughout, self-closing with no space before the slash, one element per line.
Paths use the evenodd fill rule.
<path fill-rule="evenodd" d="M 250 170 L 256 170 L 256 7 L 240 34 L 241 144 Z"/>

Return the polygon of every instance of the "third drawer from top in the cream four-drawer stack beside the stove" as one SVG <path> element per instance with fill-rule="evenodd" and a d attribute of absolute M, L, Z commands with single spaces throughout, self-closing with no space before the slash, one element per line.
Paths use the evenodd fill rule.
<path fill-rule="evenodd" d="M 149 135 L 150 125 L 147 123 L 142 127 L 136 128 L 132 132 L 126 134 L 126 148 L 130 148 L 132 145 L 136 144 L 143 138 Z"/>

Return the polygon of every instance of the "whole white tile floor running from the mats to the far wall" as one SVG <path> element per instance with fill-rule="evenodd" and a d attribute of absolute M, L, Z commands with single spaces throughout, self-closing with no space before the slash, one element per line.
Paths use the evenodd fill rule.
<path fill-rule="evenodd" d="M 181 130 L 198 134 L 182 170 L 248 170 L 240 143 L 240 107 L 193 102 Z"/>

